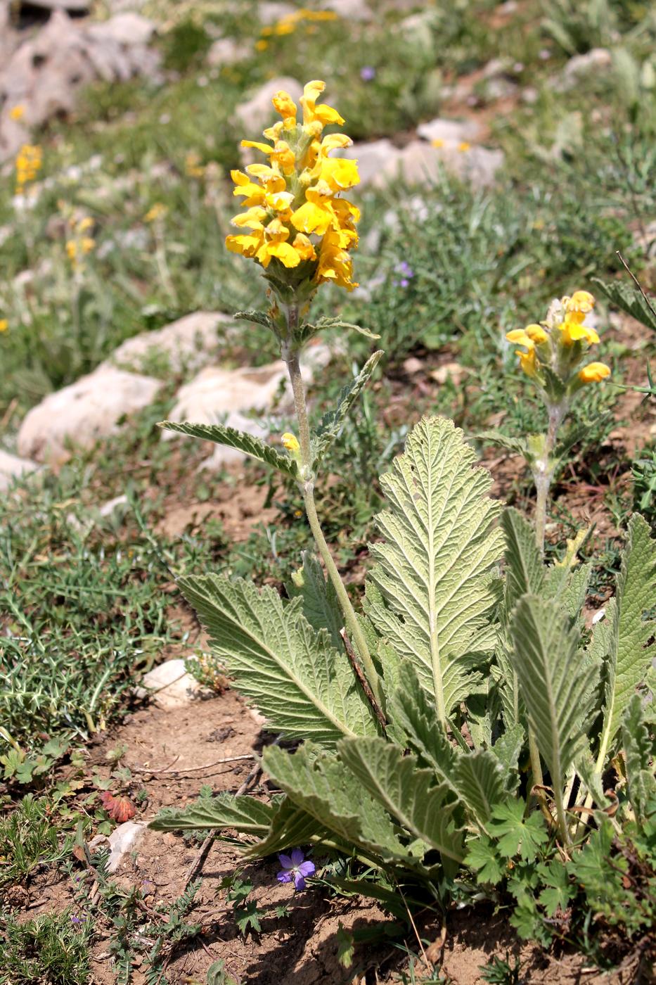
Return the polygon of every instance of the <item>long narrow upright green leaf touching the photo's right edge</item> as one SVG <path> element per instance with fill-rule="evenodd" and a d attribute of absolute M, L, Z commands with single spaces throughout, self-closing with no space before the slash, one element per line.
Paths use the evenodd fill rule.
<path fill-rule="evenodd" d="M 617 582 L 617 609 L 612 612 L 611 649 L 606 664 L 604 725 L 597 769 L 615 750 L 624 712 L 651 666 L 654 618 L 645 619 L 656 599 L 656 542 L 649 524 L 633 513 L 629 522 L 622 568 Z"/>

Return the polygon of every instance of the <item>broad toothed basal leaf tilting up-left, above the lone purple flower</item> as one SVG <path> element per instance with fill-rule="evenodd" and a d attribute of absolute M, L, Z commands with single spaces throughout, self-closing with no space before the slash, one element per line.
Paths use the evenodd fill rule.
<path fill-rule="evenodd" d="M 341 842 L 376 860 L 418 868 L 417 860 L 399 841 L 382 806 L 362 789 L 336 755 L 306 742 L 294 755 L 270 746 L 265 749 L 262 762 L 290 800 L 337 834 Z"/>

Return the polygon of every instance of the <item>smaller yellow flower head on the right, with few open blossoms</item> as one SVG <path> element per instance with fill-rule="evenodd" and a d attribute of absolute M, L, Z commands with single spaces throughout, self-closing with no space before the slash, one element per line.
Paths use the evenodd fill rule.
<path fill-rule="evenodd" d="M 544 391 L 549 402 L 567 403 L 587 383 L 610 376 L 604 362 L 586 362 L 590 348 L 599 342 L 594 328 L 585 324 L 595 304 L 587 291 L 555 300 L 540 322 L 508 332 L 506 339 L 521 349 L 515 351 L 527 374 Z"/>

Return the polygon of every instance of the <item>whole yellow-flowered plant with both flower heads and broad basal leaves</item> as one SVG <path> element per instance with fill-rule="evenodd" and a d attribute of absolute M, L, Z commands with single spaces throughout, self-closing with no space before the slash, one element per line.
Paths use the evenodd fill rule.
<path fill-rule="evenodd" d="M 632 517 L 616 596 L 588 633 L 591 565 L 576 565 L 574 546 L 546 565 L 528 521 L 490 496 L 492 478 L 476 466 L 462 431 L 425 418 L 381 477 L 386 506 L 356 610 L 323 537 L 314 486 L 380 354 L 314 433 L 298 369 L 304 341 L 320 327 L 302 321 L 309 299 L 325 280 L 353 285 L 356 212 L 335 175 L 351 186 L 355 164 L 341 170 L 322 153 L 331 139 L 319 141 L 323 125 L 339 117 L 317 104 L 321 88 L 305 87 L 302 124 L 285 94 L 274 100 L 283 123 L 270 131 L 271 146 L 262 145 L 270 164 L 235 176 L 248 208 L 237 225 L 247 216 L 250 231 L 229 243 L 269 282 L 270 311 L 248 316 L 279 339 L 297 436 L 282 436 L 281 453 L 231 428 L 165 424 L 238 447 L 293 477 L 302 492 L 323 567 L 305 555 L 288 597 L 225 574 L 179 580 L 235 687 L 297 748 L 273 745 L 262 755 L 283 796 L 203 797 L 182 812 L 164 811 L 152 826 L 236 828 L 246 857 L 283 853 L 278 878 L 296 886 L 313 863 L 299 850 L 285 854 L 293 846 L 312 845 L 315 858 L 319 850 L 345 856 L 352 871 L 378 873 L 382 885 L 363 876 L 336 885 L 370 892 L 394 912 L 403 910 L 389 886 L 402 882 L 442 904 L 456 880 L 461 896 L 503 885 L 515 896 L 515 926 L 529 927 L 526 936 L 541 927 L 544 939 L 553 893 L 544 902 L 536 887 L 553 886 L 558 870 L 558 900 L 564 906 L 576 896 L 587 838 L 581 816 L 607 837 L 618 819 L 642 829 L 656 803 L 651 713 L 642 700 L 653 689 L 656 544 L 644 520 Z M 579 368 L 596 338 L 584 324 L 591 304 L 581 293 L 564 298 L 542 325 L 511 339 L 560 416 L 588 378 L 604 375 Z M 602 779 L 620 759 L 611 799 Z"/>

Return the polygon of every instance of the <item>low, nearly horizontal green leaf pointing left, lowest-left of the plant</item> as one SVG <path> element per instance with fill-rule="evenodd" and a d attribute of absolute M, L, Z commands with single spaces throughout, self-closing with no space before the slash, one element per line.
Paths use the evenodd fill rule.
<path fill-rule="evenodd" d="M 264 837 L 275 812 L 274 805 L 265 804 L 254 797 L 234 797 L 221 793 L 217 797 L 200 797 L 182 811 L 164 808 L 149 827 L 156 831 L 235 827 L 245 834 Z"/>

